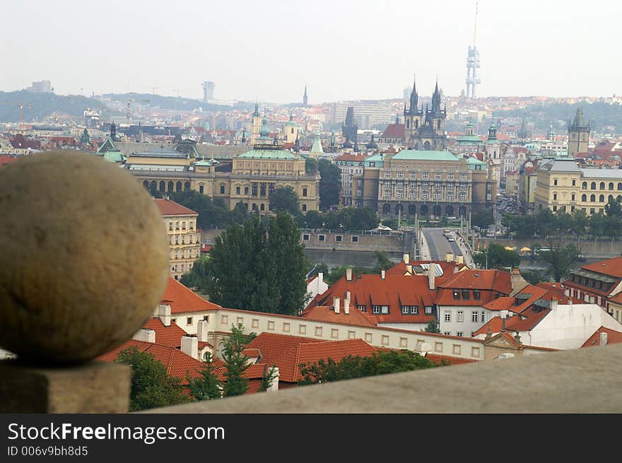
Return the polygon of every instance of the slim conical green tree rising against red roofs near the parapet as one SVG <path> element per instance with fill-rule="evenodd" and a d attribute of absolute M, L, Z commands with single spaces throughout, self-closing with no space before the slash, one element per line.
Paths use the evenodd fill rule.
<path fill-rule="evenodd" d="M 248 378 L 242 376 L 250 367 L 248 357 L 242 353 L 246 347 L 245 341 L 242 324 L 237 327 L 232 325 L 231 334 L 221 341 L 223 361 L 227 369 L 223 385 L 224 397 L 242 395 L 248 390 Z"/>

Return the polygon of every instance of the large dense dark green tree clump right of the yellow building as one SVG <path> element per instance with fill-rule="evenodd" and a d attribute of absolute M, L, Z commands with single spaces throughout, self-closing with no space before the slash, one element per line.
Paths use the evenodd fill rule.
<path fill-rule="evenodd" d="M 293 218 L 250 216 L 216 238 L 205 284 L 210 299 L 225 307 L 293 315 L 307 296 L 307 257 Z"/>

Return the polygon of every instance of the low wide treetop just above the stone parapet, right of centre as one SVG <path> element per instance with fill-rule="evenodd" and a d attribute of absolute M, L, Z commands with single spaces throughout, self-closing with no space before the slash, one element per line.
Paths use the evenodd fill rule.
<path fill-rule="evenodd" d="M 377 351 L 369 357 L 347 356 L 340 361 L 332 358 L 317 363 L 300 363 L 299 385 L 350 380 L 357 377 L 387 375 L 438 366 L 413 351 Z"/>

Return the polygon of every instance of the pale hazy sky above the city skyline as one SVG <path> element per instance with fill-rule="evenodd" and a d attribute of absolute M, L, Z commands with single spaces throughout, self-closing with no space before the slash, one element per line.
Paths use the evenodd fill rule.
<path fill-rule="evenodd" d="M 0 90 L 311 103 L 465 87 L 471 0 L 3 0 Z M 622 93 L 622 3 L 481 0 L 478 94 Z M 4 48 L 4 49 L 3 49 Z"/>

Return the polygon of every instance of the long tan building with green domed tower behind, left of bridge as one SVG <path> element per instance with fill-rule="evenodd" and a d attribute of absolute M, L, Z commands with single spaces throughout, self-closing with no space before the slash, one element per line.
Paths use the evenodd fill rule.
<path fill-rule="evenodd" d="M 131 153 L 124 168 L 151 191 L 194 189 L 222 198 L 229 209 L 242 202 L 249 211 L 267 213 L 269 195 L 279 187 L 291 187 L 298 194 L 303 212 L 319 209 L 319 174 L 307 175 L 305 158 L 269 138 L 265 116 L 253 149 L 232 163 L 200 158 L 194 141 L 184 140 L 174 150 L 157 146 Z"/>

